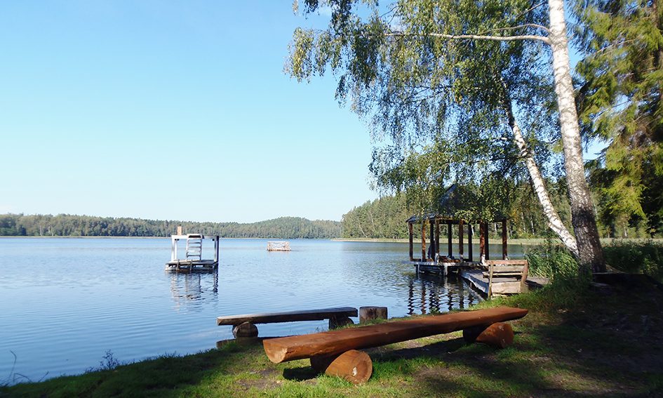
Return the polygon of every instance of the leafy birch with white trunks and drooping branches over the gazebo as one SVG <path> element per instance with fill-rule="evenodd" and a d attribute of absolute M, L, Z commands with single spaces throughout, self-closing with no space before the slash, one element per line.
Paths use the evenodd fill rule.
<path fill-rule="evenodd" d="M 549 227 L 583 267 L 605 269 L 562 0 L 401 0 L 387 8 L 373 0 L 302 1 L 304 14 L 321 9 L 330 11 L 330 25 L 295 31 L 286 72 L 299 81 L 337 75 L 337 99 L 369 119 L 382 142 L 371 165 L 378 185 L 407 191 L 459 178 L 483 183 L 524 167 Z M 575 237 L 540 173 L 556 146 Z M 420 164 L 408 168 L 413 159 L 433 160 L 416 172 Z"/>

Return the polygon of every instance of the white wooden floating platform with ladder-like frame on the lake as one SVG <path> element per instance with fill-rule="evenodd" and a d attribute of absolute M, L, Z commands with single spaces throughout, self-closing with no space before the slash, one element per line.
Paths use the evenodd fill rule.
<path fill-rule="evenodd" d="M 178 230 L 180 232 L 180 230 Z M 203 234 L 177 234 L 170 235 L 172 239 L 172 248 L 170 252 L 170 261 L 166 263 L 166 271 L 192 272 L 192 271 L 213 271 L 219 266 L 219 236 L 205 236 Z M 178 258 L 178 241 L 187 239 L 186 258 Z M 214 259 L 203 259 L 203 239 L 212 239 L 214 244 Z"/>

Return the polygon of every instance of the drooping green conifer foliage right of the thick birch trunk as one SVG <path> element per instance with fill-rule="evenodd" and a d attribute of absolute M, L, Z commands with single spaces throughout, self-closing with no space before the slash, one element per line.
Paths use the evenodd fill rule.
<path fill-rule="evenodd" d="M 644 219 L 663 230 L 663 7 L 657 0 L 578 1 L 577 65 L 586 138 L 608 147 L 591 183 L 611 225 Z M 614 233 L 612 233 L 614 234 Z"/>

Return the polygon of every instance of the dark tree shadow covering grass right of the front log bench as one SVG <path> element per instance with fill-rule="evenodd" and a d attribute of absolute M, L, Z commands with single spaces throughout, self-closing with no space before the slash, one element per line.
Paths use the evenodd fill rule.
<path fill-rule="evenodd" d="M 374 381 L 408 376 L 413 397 L 662 397 L 663 296 L 588 299 L 558 321 L 514 321 L 504 350 L 453 338 L 371 354 Z"/>

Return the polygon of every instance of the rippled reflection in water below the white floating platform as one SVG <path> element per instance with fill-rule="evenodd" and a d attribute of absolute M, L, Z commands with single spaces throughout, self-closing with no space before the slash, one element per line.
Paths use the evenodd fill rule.
<path fill-rule="evenodd" d="M 219 294 L 219 271 L 178 273 L 168 272 L 170 296 L 175 310 L 201 310 L 203 300 L 215 301 Z"/>

